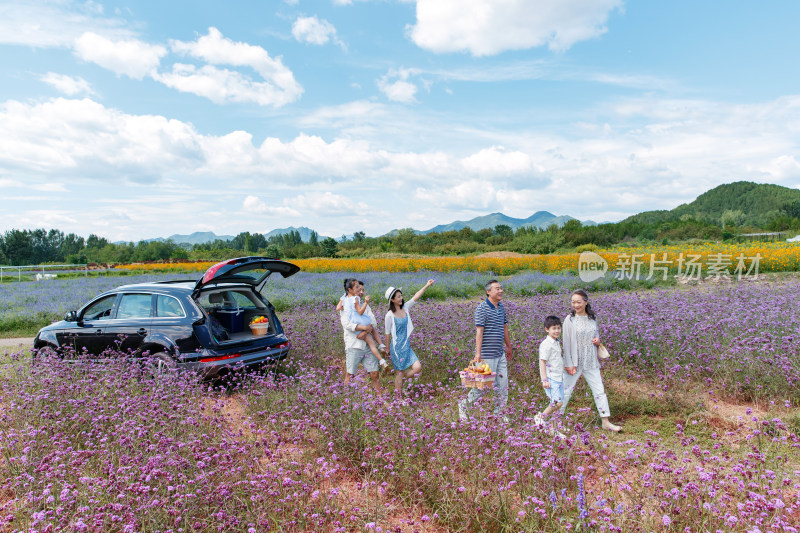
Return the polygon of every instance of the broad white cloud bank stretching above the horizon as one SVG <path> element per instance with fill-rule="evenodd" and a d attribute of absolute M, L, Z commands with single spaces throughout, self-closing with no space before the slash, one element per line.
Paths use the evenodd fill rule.
<path fill-rule="evenodd" d="M 355 109 L 369 116 L 369 105 Z M 345 111 L 322 114 L 335 121 Z M 546 209 L 602 221 L 673 208 L 734 179 L 790 187 L 800 181 L 800 96 L 746 106 L 651 98 L 608 107 L 606 114 L 619 119 L 614 127 L 580 124 L 567 136 L 503 134 L 502 145 L 487 142 L 491 132 L 485 132 L 471 144 L 430 151 L 305 134 L 256 144 L 247 131 L 204 135 L 178 120 L 131 115 L 88 98 L 8 101 L 0 104 L 0 186 L 24 183 L 59 194 L 75 204 L 80 219 L 89 184 L 92 195 L 106 187 L 119 206 L 121 187 L 146 182 L 150 194 L 168 191 L 179 199 L 165 200 L 174 212 L 197 220 L 259 214 L 300 216 L 310 224 L 338 216 L 349 222 L 334 233 L 348 233 L 348 224 L 362 218 L 367 223 L 358 227 L 366 230 L 392 224 L 363 216 L 364 204 L 374 206 L 387 194 L 405 211 L 436 211 L 438 221 L 489 209 L 515 216 Z M 204 197 L 208 190 L 213 198 Z M 131 205 L 131 231 L 139 232 L 136 224 L 144 219 L 134 212 L 140 204 Z"/>

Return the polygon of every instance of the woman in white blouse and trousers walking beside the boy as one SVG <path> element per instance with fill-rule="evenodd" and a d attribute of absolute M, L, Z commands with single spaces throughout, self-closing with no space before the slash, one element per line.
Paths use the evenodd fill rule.
<path fill-rule="evenodd" d="M 611 414 L 608 408 L 608 398 L 603 387 L 603 377 L 600 375 L 600 360 L 597 358 L 597 347 L 600 346 L 600 332 L 597 329 L 597 317 L 589 305 L 589 295 L 586 291 L 577 290 L 570 297 L 572 311 L 564 319 L 564 404 L 561 406 L 563 413 L 572 396 L 572 391 L 583 376 L 594 395 L 594 403 L 600 418 L 603 420 L 603 429 L 619 431 L 620 427 L 612 424 L 608 417 Z"/>

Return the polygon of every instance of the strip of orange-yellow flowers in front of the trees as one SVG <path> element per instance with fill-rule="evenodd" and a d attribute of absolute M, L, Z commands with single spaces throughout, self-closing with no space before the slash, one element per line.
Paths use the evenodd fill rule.
<path fill-rule="evenodd" d="M 727 269 L 731 273 L 741 262 L 745 269 L 752 266 L 754 258 L 758 258 L 759 272 L 786 272 L 800 270 L 800 245 L 796 243 L 749 243 L 749 244 L 702 244 L 691 246 L 650 246 L 650 247 L 616 247 L 598 250 L 598 253 L 609 264 L 609 270 L 633 268 L 639 263 L 642 272 L 647 273 L 654 262 L 656 266 L 669 268 L 676 272 L 681 256 L 682 265 L 687 263 L 703 265 L 703 274 L 710 264 L 719 269 Z M 535 270 L 543 273 L 555 273 L 564 270 L 578 269 L 579 254 L 526 255 L 516 257 L 389 257 L 389 258 L 315 258 L 292 260 L 306 272 L 414 272 L 432 270 L 448 272 L 451 270 L 467 270 L 474 272 L 494 272 L 508 275 L 522 270 Z M 159 271 L 205 271 L 214 262 L 182 262 L 182 263 L 132 263 L 118 264 L 116 268 L 129 270 Z"/>

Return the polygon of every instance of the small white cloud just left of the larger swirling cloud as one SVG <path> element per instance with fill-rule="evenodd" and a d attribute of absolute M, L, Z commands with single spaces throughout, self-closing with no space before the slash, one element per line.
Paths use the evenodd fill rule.
<path fill-rule="evenodd" d="M 75 40 L 75 53 L 84 61 L 141 80 L 155 73 L 167 49 L 136 39 L 112 41 L 102 35 L 86 32 Z"/>

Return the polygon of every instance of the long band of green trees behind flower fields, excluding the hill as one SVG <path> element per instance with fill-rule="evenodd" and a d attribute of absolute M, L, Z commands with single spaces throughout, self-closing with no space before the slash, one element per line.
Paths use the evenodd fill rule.
<path fill-rule="evenodd" d="M 725 218 L 735 219 L 736 214 Z M 800 212 L 798 212 L 800 215 Z M 767 229 L 800 230 L 800 216 L 783 214 L 773 219 Z M 58 230 L 10 230 L 0 236 L 0 263 L 26 265 L 40 263 L 130 263 L 166 260 L 219 260 L 240 255 L 266 255 L 287 259 L 308 257 L 358 257 L 379 253 L 421 253 L 431 255 L 463 255 L 495 250 L 547 254 L 572 250 L 581 245 L 613 246 L 621 242 L 640 241 L 666 244 L 690 239 L 725 240 L 736 233 L 758 231 L 758 228 L 718 224 L 684 214 L 677 220 L 646 221 L 631 217 L 613 224 L 584 226 L 570 220 L 563 227 L 546 229 L 506 225 L 474 231 L 418 234 L 401 229 L 380 237 L 367 237 L 356 232 L 339 240 L 320 239 L 312 232 L 303 241 L 299 231 L 290 231 L 269 238 L 260 233 L 242 232 L 232 240 L 180 245 L 172 241 L 110 243 L 97 235 L 88 238 Z"/>

